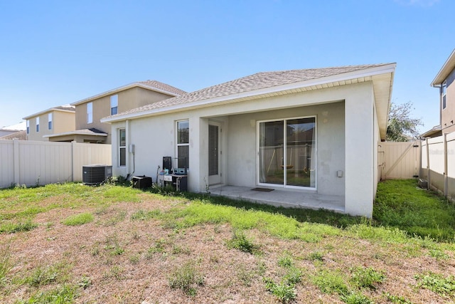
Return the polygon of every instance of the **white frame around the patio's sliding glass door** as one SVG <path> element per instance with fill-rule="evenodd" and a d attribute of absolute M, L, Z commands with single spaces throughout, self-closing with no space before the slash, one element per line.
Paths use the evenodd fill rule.
<path fill-rule="evenodd" d="M 301 187 L 301 186 L 291 186 L 287 184 L 287 176 L 284 174 L 284 182 L 282 185 L 280 184 L 268 184 L 268 183 L 261 183 L 259 182 L 259 176 L 260 176 L 260 164 L 259 164 L 259 135 L 260 135 L 260 124 L 262 122 L 275 122 L 275 121 L 280 121 L 282 120 L 283 122 L 283 138 L 286 138 L 286 121 L 287 120 L 298 120 L 298 119 L 304 119 L 304 118 L 314 118 L 314 134 L 315 134 L 315 139 L 314 139 L 314 145 L 316 146 L 314 148 L 314 154 L 316 156 L 315 162 L 314 162 L 314 187 Z M 277 187 L 277 188 L 287 188 L 287 189 L 305 189 L 305 190 L 310 190 L 310 191 L 317 191 L 318 189 L 318 119 L 316 115 L 309 115 L 309 116 L 298 116 L 298 117 L 286 117 L 286 118 L 275 118 L 271 120 L 258 120 L 256 123 L 256 151 L 257 151 L 257 157 L 256 157 L 256 184 L 259 186 L 267 186 L 267 187 Z M 283 163 L 287 164 L 287 152 L 284 150 L 284 155 L 283 155 Z"/>

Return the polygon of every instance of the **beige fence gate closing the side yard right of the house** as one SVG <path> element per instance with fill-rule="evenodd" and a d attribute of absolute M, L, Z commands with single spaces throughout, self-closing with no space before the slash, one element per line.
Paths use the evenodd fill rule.
<path fill-rule="evenodd" d="M 414 142 L 379 142 L 380 179 L 419 177 L 420 140 Z"/>

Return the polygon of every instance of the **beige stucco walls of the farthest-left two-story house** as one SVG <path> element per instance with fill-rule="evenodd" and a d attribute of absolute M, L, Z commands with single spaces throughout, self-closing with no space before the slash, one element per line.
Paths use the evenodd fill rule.
<path fill-rule="evenodd" d="M 48 128 L 48 114 L 52 113 L 52 129 Z M 36 117 L 40 117 L 40 130 L 36 132 Z M 27 140 L 39 140 L 48 142 L 48 137 L 45 135 L 53 135 L 62 132 L 70 132 L 75 130 L 75 112 L 63 112 L 63 111 L 49 111 L 36 117 L 28 119 L 30 132 L 27 135 Z"/>

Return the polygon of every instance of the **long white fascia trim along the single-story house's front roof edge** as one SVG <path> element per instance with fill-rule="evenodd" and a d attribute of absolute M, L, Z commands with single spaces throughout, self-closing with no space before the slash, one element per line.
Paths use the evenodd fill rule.
<path fill-rule="evenodd" d="M 316 78 L 316 79 L 311 79 L 311 80 L 304 80 L 300 81 L 298 83 L 290 83 L 286 85 L 277 85 L 274 87 L 268 87 L 268 88 L 262 88 L 259 90 L 251 90 L 247 92 L 242 92 L 242 93 L 234 93 L 230 95 L 225 95 L 225 96 L 220 96 L 220 97 L 215 97 L 215 98 L 209 98 L 205 100 L 197 100 L 189 103 L 183 103 L 179 105 L 171 105 L 168 107 L 164 108 L 158 108 L 158 109 L 152 109 L 152 110 L 147 110 L 143 112 L 135 112 L 132 114 L 126 114 L 126 115 L 117 115 L 115 117 L 105 117 L 102 118 L 100 121 L 101 122 L 118 122 L 122 120 L 127 120 L 127 119 L 134 119 L 134 118 L 140 118 L 140 117 L 146 117 L 146 116 L 152 116 L 152 115 L 159 115 L 159 114 L 164 114 L 166 112 L 176 112 L 176 111 L 183 111 L 183 110 L 189 110 L 191 108 L 200 108 L 212 103 L 230 103 L 230 102 L 235 102 L 235 100 L 240 100 L 243 98 L 259 98 L 261 95 L 266 95 L 266 94 L 273 94 L 273 93 L 279 93 L 287 90 L 296 90 L 299 88 L 308 88 L 314 85 L 323 85 L 323 84 L 328 84 L 328 83 L 336 83 L 336 82 L 342 82 L 346 80 L 352 80 L 355 78 L 365 78 L 365 77 L 372 77 L 375 75 L 380 75 L 380 74 L 385 74 L 385 73 L 394 73 L 395 71 L 395 63 L 387 64 L 387 65 L 381 65 L 379 67 L 375 68 L 367 68 L 365 70 L 356 70 L 353 72 L 348 72 L 348 73 L 342 73 L 338 75 L 331 75 L 323 78 Z"/>

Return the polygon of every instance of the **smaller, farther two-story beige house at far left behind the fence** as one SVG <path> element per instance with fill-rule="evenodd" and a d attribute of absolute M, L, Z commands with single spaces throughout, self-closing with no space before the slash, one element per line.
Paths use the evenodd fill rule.
<path fill-rule="evenodd" d="M 75 107 L 60 105 L 23 117 L 27 125 L 27 140 L 49 141 L 49 136 L 75 129 Z"/>

